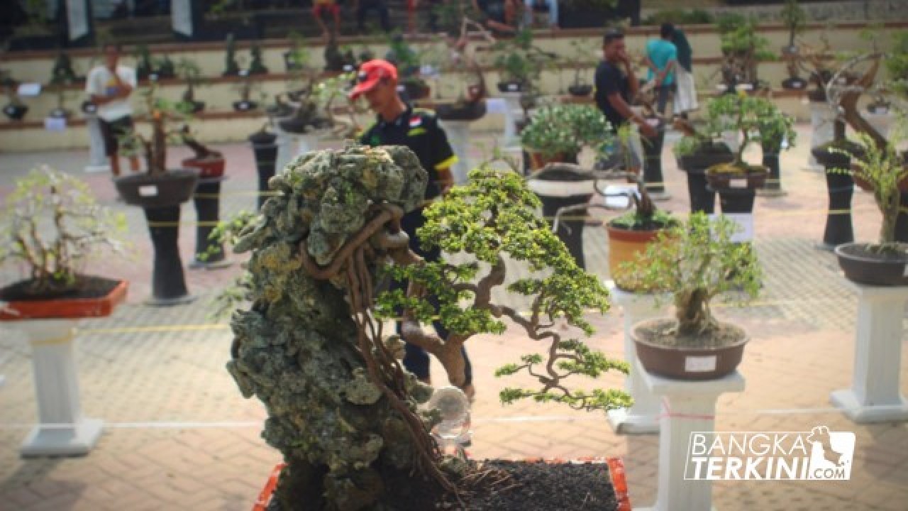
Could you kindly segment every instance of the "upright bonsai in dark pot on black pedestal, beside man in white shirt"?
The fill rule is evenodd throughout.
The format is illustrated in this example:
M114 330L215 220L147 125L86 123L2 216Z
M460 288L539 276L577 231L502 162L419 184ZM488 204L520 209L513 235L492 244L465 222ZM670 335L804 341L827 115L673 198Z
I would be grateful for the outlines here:
M124 153L141 151L146 172L116 177L114 185L124 203L143 208L148 223L154 261L152 297L146 304L173 306L192 300L186 289L178 240L180 205L192 196L199 174L194 169L168 168L167 140L179 137L181 130L168 130L166 123L183 121L185 114L178 110L179 104L158 97L156 90L157 85L152 82L143 92L151 135L134 131L121 140Z

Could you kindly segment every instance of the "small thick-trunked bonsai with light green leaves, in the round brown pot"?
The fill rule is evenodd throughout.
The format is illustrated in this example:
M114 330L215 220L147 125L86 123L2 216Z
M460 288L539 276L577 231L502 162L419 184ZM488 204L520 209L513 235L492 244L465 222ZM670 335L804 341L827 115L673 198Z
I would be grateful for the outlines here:
M698 212L661 233L645 255L627 264L645 288L672 293L680 345L696 346L719 326L710 309L716 296L744 291L738 301L743 305L759 293L759 263L750 245L732 241L736 229L724 216L711 221Z

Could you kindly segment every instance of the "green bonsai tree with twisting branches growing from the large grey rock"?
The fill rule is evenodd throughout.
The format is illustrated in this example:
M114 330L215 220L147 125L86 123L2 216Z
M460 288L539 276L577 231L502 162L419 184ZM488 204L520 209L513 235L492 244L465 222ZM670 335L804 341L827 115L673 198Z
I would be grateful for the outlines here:
M426 225L417 233L421 245L438 246L449 254L466 254L470 261L457 265L419 261L390 268L395 278L410 280L410 291L380 296L377 312L379 316L396 316L395 310L401 307L404 338L438 356L454 385L462 385L464 379L460 347L471 336L503 332L501 318L507 317L523 327L531 339L545 341L548 355L522 356L519 364L498 369L497 376L525 370L541 385L532 390L507 388L500 395L503 403L528 397L587 410L628 406L629 396L621 391L568 389L565 380L570 376L595 378L613 369L627 373L627 364L590 350L579 339L563 338L554 326L563 318L568 325L591 335L593 329L584 318L585 312L596 309L605 313L608 295L596 276L574 263L566 247L536 214L538 206L538 197L518 174L488 166L473 170L467 185L453 188L424 210ZM491 300L492 288L505 282L505 257L524 261L529 267L530 276L507 287L512 293L532 298L528 312ZM422 299L427 293L438 296L438 309ZM448 338L427 335L419 326L434 316L449 328Z

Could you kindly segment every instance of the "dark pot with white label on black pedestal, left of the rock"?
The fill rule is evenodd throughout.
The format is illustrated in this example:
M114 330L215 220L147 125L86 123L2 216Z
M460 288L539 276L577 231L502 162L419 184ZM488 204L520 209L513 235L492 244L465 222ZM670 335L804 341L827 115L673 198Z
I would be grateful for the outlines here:
M163 174L123 175L114 179L114 185L128 205L167 207L188 201L198 181L198 171L177 168Z

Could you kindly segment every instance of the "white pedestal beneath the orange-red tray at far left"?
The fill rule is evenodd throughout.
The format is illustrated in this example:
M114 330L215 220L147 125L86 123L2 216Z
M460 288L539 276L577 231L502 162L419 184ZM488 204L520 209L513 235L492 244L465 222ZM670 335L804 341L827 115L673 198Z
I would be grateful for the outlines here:
M98 442L104 423L82 415L73 357L75 320L16 321L32 346L38 426L20 449L22 456L81 456Z

